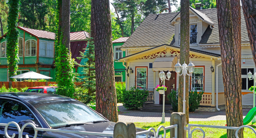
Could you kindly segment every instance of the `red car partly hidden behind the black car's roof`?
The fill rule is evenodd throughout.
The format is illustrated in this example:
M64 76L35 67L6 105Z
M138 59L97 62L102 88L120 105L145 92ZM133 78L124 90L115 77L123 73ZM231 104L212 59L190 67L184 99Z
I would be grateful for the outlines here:
M52 93L56 94L56 86L40 86L28 88L25 92L39 92L39 93Z

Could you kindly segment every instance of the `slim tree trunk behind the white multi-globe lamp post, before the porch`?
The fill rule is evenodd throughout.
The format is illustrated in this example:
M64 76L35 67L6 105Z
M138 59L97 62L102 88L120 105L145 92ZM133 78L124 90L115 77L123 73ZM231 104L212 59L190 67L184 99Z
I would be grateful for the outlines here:
M181 46L180 63L189 64L189 0L181 0ZM183 75L179 77L179 101L178 111L183 112ZM186 100L186 119L189 123L189 76L186 76L185 100Z

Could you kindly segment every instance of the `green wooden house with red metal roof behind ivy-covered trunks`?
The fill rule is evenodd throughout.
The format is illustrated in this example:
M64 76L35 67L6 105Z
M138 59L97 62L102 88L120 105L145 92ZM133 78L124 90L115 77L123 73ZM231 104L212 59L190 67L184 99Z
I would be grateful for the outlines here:
M54 67L54 40L55 33L43 30L17 27L19 30L19 63L17 75L28 71L35 71L40 74L52 77L55 81ZM0 81L8 81L8 63L6 55L6 43L8 35L0 37ZM89 33L85 31L70 33L70 47L72 58L80 63L76 57L80 56L80 51L84 52ZM74 72L81 72L75 65ZM18 80L22 81L22 80Z

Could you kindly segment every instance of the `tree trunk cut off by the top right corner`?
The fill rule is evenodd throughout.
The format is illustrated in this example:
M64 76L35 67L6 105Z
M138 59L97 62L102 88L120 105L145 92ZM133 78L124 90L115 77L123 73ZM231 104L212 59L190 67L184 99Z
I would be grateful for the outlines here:
M256 0L241 0L245 16L246 28L256 66Z

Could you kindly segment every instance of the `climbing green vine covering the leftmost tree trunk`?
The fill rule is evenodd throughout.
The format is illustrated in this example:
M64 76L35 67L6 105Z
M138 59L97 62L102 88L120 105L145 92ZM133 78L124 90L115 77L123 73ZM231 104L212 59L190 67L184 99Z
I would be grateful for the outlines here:
M6 46L6 56L8 61L9 77L15 76L18 70L19 62L19 46L18 37L19 31L16 28L18 26L18 14L19 14L19 0L9 0L9 13L7 20L7 46ZM9 81L14 79L9 78Z

